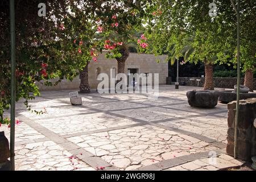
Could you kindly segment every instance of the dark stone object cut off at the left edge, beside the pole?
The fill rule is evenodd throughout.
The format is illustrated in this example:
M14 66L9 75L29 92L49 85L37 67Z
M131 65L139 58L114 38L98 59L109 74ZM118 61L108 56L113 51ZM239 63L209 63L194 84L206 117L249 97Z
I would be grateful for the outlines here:
M0 132L0 170L7 170L7 163L10 158L9 141L5 137L5 132Z

